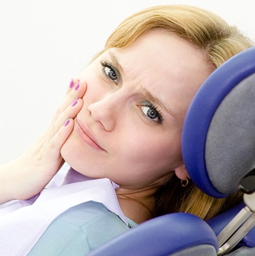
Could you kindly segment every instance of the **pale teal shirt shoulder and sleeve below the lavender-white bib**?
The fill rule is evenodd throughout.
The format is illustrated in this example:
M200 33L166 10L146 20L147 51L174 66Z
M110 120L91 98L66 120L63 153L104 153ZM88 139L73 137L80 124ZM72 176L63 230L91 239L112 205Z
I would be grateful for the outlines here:
M84 255L129 229L102 204L82 203L56 218L28 255Z

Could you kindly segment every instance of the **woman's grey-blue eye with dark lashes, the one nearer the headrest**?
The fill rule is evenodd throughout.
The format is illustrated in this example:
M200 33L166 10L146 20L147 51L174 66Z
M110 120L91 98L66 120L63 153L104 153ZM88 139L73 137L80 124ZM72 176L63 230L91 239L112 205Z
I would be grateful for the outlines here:
M149 101L142 102L138 105L144 117L150 122L156 122L158 124L163 123L163 117L160 111L157 110L156 106Z

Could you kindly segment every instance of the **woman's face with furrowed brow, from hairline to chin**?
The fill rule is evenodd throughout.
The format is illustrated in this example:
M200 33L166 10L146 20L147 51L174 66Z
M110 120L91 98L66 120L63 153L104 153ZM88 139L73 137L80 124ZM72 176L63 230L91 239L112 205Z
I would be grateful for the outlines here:
M160 185L182 166L184 116L209 74L201 51L165 30L107 50L79 76L87 90L63 158L121 187Z

